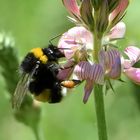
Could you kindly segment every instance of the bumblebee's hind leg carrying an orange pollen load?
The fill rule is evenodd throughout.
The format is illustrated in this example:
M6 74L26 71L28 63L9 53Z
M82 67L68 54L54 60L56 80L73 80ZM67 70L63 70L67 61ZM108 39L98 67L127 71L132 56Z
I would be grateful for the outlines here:
M61 86L66 87L66 88L74 88L75 86L79 85L80 83L82 83L81 80L65 80L61 82Z

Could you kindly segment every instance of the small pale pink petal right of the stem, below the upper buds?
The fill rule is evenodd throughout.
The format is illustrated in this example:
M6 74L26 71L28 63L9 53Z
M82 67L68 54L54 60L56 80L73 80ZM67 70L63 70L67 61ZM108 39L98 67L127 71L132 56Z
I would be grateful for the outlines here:
M114 40L114 39L123 38L125 35L125 30L126 30L126 26L124 22L119 22L111 29L111 32L109 33L109 39Z

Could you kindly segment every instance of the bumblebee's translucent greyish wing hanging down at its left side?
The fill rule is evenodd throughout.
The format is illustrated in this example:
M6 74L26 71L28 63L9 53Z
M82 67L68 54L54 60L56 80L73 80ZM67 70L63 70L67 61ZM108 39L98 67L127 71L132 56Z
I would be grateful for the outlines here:
M21 76L21 79L19 80L17 87L15 89L15 93L12 98L12 107L19 109L22 101L25 97L25 95L28 92L28 85L29 85L29 80L30 75L27 73L23 73Z

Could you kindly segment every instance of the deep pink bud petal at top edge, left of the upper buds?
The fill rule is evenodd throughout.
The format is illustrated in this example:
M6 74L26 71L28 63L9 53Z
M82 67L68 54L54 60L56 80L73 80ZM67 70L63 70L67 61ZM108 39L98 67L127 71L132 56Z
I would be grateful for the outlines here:
M74 14L77 16L80 15L79 7L76 0L62 0L62 1L70 14Z

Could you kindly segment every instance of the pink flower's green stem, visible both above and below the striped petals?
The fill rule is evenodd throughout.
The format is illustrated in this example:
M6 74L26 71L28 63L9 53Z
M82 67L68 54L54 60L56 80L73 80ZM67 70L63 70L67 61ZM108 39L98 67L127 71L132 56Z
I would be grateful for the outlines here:
M93 33L94 36L94 52L93 59L96 63L99 63L99 51L102 47L102 35ZM97 116L97 126L98 126L98 137L99 140L107 140L107 130L106 130L106 120L104 111L104 98L103 98L103 86L94 86L94 97L95 97L95 110Z

